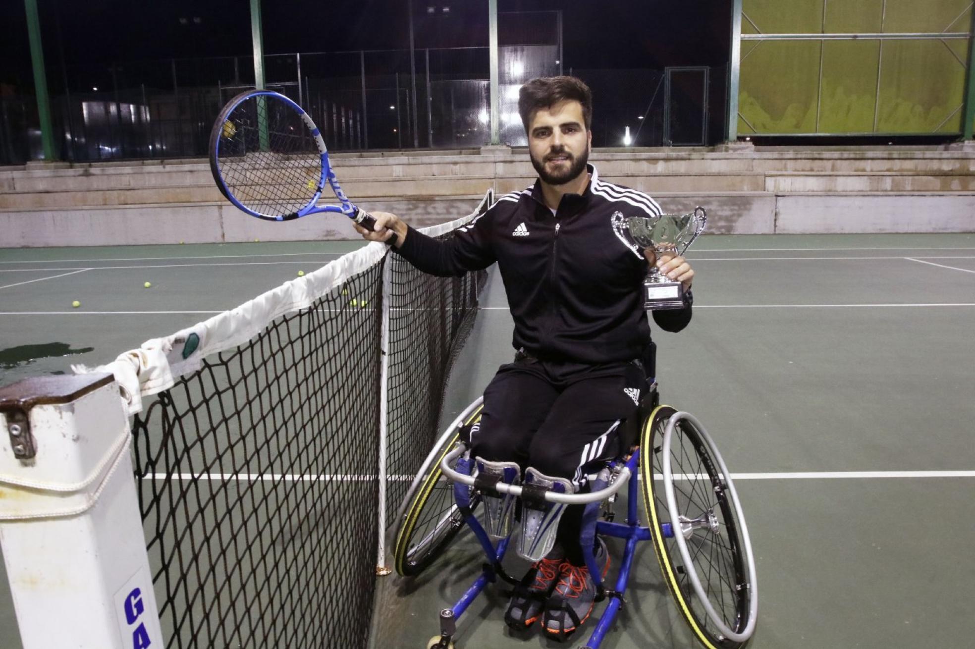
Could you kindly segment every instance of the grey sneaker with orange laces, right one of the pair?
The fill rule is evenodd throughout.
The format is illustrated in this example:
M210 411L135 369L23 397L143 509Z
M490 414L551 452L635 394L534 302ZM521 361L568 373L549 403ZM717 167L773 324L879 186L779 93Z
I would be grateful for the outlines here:
M597 537L596 564L602 566L603 578L609 570L609 553L603 539ZM596 583L589 568L564 561L559 582L545 603L544 629L551 637L565 640L582 626L596 605Z

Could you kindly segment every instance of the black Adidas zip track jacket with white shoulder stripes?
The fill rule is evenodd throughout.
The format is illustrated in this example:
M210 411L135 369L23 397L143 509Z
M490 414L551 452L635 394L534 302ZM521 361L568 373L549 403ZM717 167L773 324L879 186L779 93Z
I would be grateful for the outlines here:
M650 341L643 310L647 262L613 232L612 216L659 214L643 192L600 180L566 194L556 214L538 180L499 198L487 212L437 241L409 228L401 248L413 266L440 277L497 262L515 320L515 349L543 361L612 363L640 359ZM690 322L691 307L653 312L666 331Z

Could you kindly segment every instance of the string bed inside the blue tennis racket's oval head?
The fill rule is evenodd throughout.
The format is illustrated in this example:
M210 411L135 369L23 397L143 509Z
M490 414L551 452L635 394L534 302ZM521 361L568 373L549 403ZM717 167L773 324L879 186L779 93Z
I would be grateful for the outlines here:
M250 97L222 125L217 160L230 194L246 208L287 215L318 192L321 161L315 138L291 105Z

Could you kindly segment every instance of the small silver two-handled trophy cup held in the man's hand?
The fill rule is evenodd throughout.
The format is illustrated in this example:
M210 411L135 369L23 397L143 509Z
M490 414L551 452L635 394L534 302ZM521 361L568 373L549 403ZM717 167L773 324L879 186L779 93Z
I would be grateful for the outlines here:
M659 257L664 253L681 255L704 232L708 214L704 208L694 208L689 214L658 214L655 216L612 215L612 229L627 248L643 257L643 250L651 248ZM643 307L647 310L682 309L685 305L683 285L650 266L643 280Z

